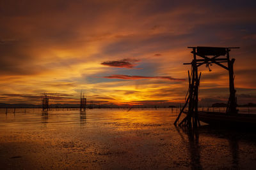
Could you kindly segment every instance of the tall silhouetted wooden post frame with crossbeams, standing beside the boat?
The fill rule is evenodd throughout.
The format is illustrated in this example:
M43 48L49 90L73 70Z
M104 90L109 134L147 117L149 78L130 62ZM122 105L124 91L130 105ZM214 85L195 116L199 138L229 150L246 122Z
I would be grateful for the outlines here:
M188 47L193 48L193 60L189 63L184 64L191 64L191 74L189 74L188 71L188 78L189 78L189 90L188 90L188 97L186 98L186 103L184 104L184 107L182 110L180 110L180 113L175 120L174 124L177 124L177 121L180 118L180 115L183 113L184 109L186 108L187 104L188 106L188 113L186 117L180 122L179 125L184 124L191 127L193 125L194 127L197 127L197 125L200 125L200 122L198 120L198 87L200 82L200 76L201 73L198 76L198 67L202 66L203 64L206 64L206 67L209 68L209 71L211 71L210 67L212 64L217 64L218 66L223 67L224 69L228 70L229 75L229 91L230 96L228 98L228 104L227 104L227 113L228 114L237 114L237 103L236 103L236 90L234 88L234 71L233 71L233 65L235 62L235 59L231 59L229 57L230 48L239 48L239 47L228 47L228 48L220 48L220 47L206 47L206 46L197 46L197 47ZM196 59L196 55L201 57L202 59ZM209 57L213 56L213 57ZM223 58L219 58L220 56L225 56ZM221 64L227 62L227 66Z

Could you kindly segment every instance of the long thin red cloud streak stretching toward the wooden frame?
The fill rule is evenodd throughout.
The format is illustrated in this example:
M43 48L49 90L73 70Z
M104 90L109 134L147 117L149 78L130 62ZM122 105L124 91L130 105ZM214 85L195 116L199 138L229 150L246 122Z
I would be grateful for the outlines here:
M176 81L185 80L181 78L172 78L171 76L129 76L129 75L123 75L123 74L114 74L111 76L104 76L104 78L118 78L118 79L125 79L125 80L139 80L143 78L158 78L158 79L176 80Z

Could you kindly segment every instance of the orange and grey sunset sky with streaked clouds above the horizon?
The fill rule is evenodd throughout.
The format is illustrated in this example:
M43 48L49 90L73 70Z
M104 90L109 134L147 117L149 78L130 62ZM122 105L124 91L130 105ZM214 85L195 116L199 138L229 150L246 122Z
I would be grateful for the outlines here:
M1 1L0 103L184 103L188 46L232 49L239 104L256 103L255 1ZM200 67L200 102L228 73Z

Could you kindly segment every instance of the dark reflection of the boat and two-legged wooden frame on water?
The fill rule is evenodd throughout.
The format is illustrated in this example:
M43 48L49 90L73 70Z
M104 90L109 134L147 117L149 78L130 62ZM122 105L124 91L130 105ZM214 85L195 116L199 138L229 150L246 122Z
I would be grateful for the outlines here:
M190 155L191 169L203 169L200 160L200 152L203 148L200 148L199 137L202 139L214 137L225 139L228 142L227 152L231 155L231 166L232 169L240 169L239 167L239 140L247 140L248 145L255 145L251 138L256 135L252 132L234 132L231 129L213 129L209 125L204 125L198 129L189 129L187 127L175 127L176 131L180 135L180 138L184 143L187 143L188 153ZM181 131L181 132L180 132ZM186 138L187 137L187 138ZM213 146L209 146L213 147ZM212 153L209 153L209 155ZM254 154L253 154L254 155ZM204 158L203 158L204 159ZM253 165L252 167L254 167Z

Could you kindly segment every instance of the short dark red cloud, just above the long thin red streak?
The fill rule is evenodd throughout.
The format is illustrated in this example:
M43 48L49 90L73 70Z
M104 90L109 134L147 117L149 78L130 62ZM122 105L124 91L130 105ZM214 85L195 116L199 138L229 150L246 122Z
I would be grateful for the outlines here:
M106 61L102 62L102 65L111 66L111 67L125 67L125 68L132 68L136 66L134 62L138 62L140 60L136 59L123 59L123 60L113 60L113 61Z

